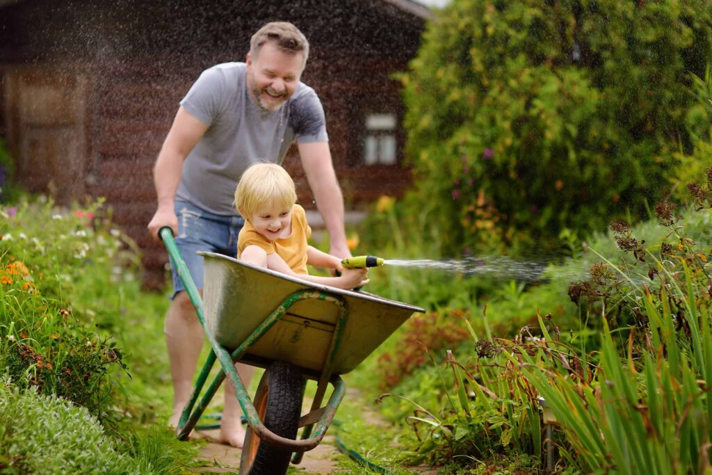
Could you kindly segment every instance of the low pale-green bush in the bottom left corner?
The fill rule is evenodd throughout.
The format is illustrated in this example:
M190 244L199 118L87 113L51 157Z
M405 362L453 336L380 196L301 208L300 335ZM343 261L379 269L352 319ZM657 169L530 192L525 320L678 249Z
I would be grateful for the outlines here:
M10 474L137 474L88 410L0 381L0 470Z

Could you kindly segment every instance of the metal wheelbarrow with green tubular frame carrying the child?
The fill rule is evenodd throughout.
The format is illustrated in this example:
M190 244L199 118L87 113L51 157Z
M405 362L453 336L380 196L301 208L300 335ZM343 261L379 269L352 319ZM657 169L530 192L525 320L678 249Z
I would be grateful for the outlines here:
M329 428L345 393L340 375L357 367L414 312L424 312L371 293L317 285L212 252L199 253L205 263L201 298L171 229L162 228L159 236L211 345L181 414L177 436L187 439L229 377L248 424L240 474L279 475L290 461L298 464ZM219 373L203 391L216 360ZM235 362L266 369L253 400ZM301 415L308 380L315 380L317 388L310 411ZM333 391L322 407L329 384Z

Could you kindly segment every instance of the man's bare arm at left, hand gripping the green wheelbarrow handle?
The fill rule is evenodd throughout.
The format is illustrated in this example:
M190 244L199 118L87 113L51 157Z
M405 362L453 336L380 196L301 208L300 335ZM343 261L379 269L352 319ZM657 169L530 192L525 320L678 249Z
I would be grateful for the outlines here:
M174 210L176 190L180 183L183 160L188 156L208 126L194 118L184 108L179 108L166 140L153 167L153 182L158 196L158 207L148 224L148 231L158 239L158 231L170 226L178 233L178 218Z

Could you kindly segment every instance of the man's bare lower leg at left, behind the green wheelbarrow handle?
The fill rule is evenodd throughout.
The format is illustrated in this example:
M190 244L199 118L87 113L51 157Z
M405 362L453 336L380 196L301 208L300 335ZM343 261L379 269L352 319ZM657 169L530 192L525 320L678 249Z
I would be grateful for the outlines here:
M203 345L203 328L185 291L177 293L168 308L165 333L173 380L173 411L168 424L177 427L193 391L193 374Z

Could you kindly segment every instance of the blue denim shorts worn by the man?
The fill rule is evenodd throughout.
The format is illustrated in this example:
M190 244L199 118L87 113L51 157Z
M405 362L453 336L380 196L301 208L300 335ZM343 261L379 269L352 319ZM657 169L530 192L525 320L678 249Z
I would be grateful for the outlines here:
M198 251L211 251L230 257L237 256L237 236L245 224L240 216L212 214L188 202L175 202L178 216L178 236L175 241L188 267L195 286L203 288L203 257ZM178 277L178 271L171 262L173 276L173 299L185 287Z

